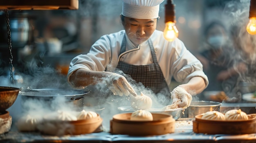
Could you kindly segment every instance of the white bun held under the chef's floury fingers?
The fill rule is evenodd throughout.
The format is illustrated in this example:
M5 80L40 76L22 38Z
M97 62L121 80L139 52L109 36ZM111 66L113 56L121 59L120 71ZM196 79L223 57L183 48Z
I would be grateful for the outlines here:
M141 95L137 95L136 97L131 96L130 102L132 108L137 110L145 110L152 107L152 99L147 95L144 95L142 92Z

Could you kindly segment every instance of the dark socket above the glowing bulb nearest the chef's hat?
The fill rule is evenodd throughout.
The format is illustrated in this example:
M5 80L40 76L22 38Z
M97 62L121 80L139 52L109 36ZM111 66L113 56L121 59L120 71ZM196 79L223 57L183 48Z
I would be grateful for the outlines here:
M172 0L167 0L167 4L165 4L165 23L166 22L176 22L175 20L175 5Z

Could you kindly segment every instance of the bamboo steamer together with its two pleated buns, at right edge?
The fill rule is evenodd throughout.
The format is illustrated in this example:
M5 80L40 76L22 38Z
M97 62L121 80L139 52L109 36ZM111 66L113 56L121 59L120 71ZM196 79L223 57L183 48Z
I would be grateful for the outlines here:
M253 134L255 126L256 114L246 114L240 109L225 114L209 111L193 120L193 132L204 134Z

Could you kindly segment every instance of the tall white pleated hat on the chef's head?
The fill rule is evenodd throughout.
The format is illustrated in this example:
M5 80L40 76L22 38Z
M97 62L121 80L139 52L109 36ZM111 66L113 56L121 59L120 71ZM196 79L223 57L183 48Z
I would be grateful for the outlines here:
M159 4L164 0L123 0L122 15L136 19L158 18Z

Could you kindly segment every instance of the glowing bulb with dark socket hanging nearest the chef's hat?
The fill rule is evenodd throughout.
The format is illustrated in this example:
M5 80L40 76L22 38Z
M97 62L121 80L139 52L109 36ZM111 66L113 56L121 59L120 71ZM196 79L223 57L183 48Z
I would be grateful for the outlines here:
M165 4L164 38L168 41L175 40L179 35L179 31L175 26L176 21L174 7L175 5L172 0L168 0L167 4Z

